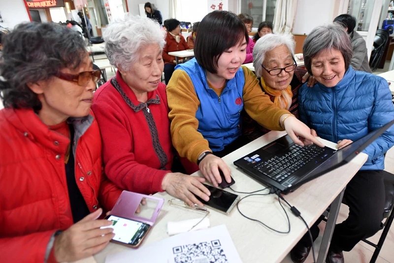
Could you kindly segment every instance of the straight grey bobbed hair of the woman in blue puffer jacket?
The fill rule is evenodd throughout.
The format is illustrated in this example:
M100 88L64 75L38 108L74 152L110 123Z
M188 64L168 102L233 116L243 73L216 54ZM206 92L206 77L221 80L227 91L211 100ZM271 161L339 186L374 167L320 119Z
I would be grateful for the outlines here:
M305 38L302 52L304 55L305 68L312 75L312 58L323 50L336 49L342 53L347 71L352 61L352 41L343 27L337 23L331 23L316 27Z

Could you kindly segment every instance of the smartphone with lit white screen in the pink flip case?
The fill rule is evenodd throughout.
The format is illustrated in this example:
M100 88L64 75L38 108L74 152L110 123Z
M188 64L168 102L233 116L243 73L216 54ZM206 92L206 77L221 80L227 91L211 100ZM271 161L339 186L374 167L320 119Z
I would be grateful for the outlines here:
M108 215L105 219L112 221L112 225L101 229L114 229L115 236L111 241L132 248L137 248L151 229L148 224L115 215Z

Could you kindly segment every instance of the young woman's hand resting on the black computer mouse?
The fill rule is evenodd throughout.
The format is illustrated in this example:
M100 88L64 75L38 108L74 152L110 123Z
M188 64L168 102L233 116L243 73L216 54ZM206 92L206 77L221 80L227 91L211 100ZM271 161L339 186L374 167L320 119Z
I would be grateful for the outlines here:
M231 170L230 167L223 161L213 154L205 156L204 159L198 165L201 173L204 177L210 181L214 187L218 187L219 183L222 182L222 177L220 177L219 169L222 170L223 175L225 175L226 181L231 182Z

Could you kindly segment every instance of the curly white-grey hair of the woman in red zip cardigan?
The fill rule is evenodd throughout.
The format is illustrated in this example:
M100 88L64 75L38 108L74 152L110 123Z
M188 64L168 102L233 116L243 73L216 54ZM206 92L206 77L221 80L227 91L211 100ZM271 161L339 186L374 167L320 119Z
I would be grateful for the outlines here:
M158 44L163 51L165 31L159 23L147 17L125 14L125 18L110 24L103 33L105 54L117 68L129 71L139 59L139 51L147 45Z

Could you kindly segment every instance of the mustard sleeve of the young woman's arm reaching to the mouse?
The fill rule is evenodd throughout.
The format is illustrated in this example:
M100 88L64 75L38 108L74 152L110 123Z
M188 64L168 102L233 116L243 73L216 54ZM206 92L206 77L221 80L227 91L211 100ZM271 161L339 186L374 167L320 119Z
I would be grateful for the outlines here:
M208 141L197 131L196 112L200 106L194 85L183 70L175 70L167 85L168 117L172 144L181 157L197 163L198 155L210 150Z

